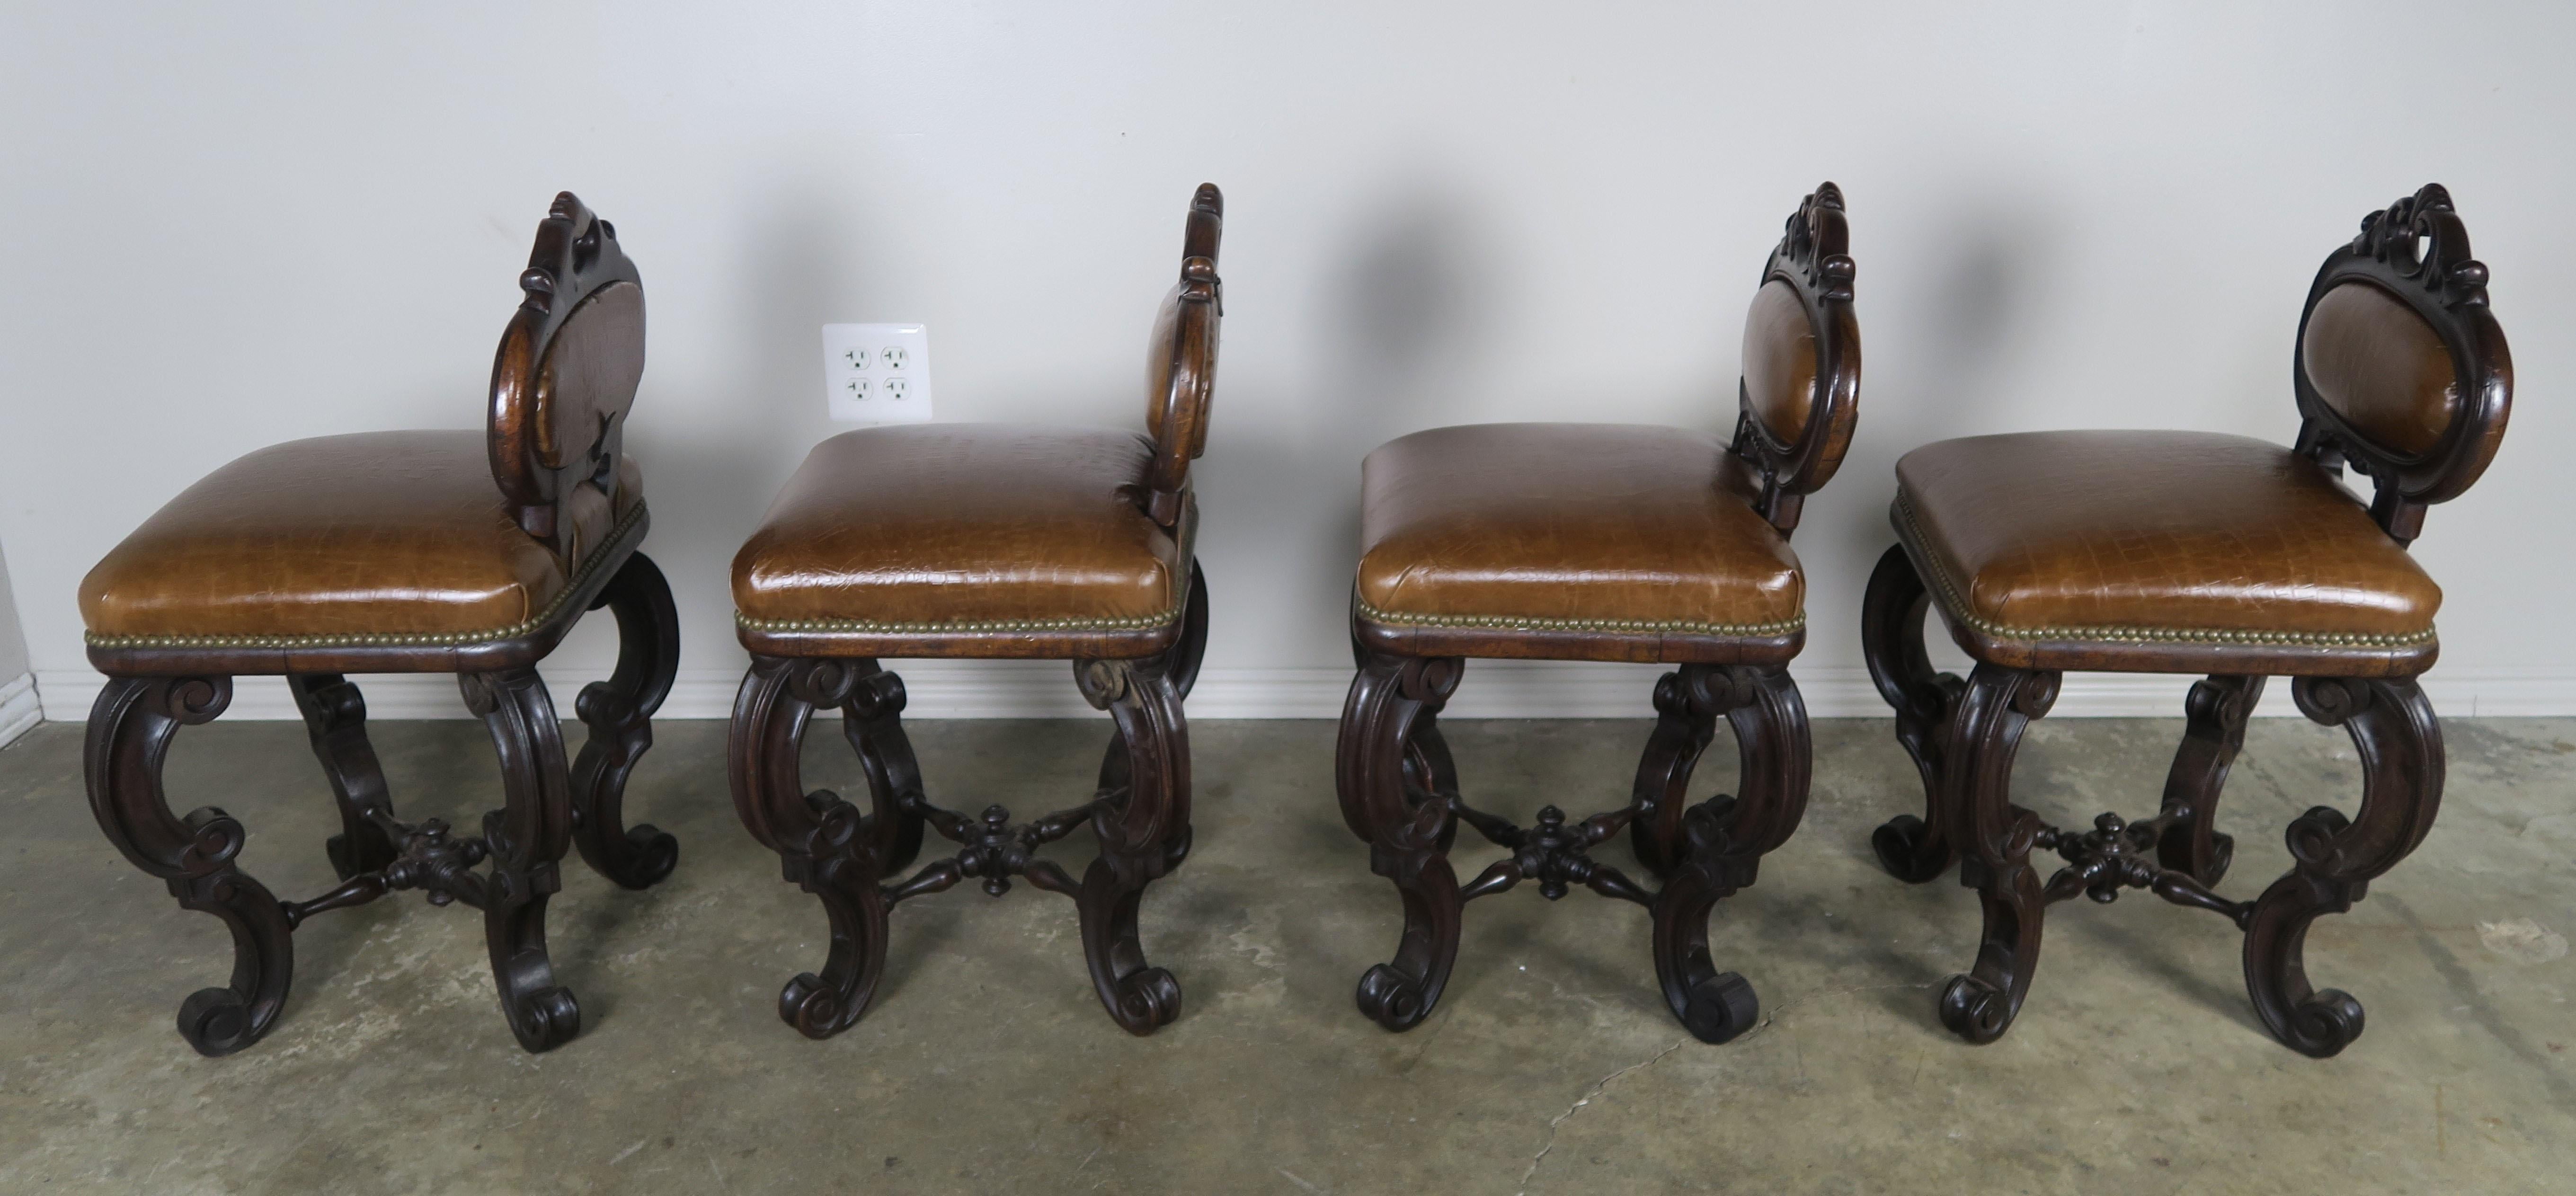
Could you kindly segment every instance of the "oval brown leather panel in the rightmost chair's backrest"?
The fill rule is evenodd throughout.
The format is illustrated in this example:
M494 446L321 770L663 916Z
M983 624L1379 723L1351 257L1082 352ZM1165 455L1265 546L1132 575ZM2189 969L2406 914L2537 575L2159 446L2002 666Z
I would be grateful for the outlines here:
M2298 358L2316 397L2385 448L2421 454L2460 415L2460 379L2442 335L2372 284L2318 296Z

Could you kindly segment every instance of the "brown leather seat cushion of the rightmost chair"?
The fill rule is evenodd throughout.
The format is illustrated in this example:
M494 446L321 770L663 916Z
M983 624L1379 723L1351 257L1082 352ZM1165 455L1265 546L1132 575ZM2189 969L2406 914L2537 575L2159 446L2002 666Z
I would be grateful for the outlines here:
M2442 606L2316 461L2244 436L1971 436L1896 482L1932 595L1991 639L2391 650Z

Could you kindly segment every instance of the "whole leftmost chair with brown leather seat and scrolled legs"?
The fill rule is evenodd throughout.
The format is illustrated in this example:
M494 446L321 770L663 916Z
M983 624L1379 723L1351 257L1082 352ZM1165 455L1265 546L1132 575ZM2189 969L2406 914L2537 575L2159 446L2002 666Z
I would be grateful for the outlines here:
M582 1031L546 961L564 848L629 889L677 858L670 835L629 830L618 812L680 662L670 588L636 552L641 477L618 451L644 376L644 284L616 229L569 191L536 227L518 284L528 299L500 340L484 433L263 448L180 492L80 583L90 662L108 675L88 742L98 830L170 882L183 910L232 928L232 985L178 1010L204 1054L276 1026L296 925L397 889L482 910L510 1034L531 1052L562 1046ZM618 619L618 668L574 704L590 742L567 776L536 662L600 606ZM345 673L456 673L502 763L507 804L482 835L394 817ZM234 675L286 675L340 799L340 887L322 897L281 902L234 866L245 835L232 815L173 817L162 799L170 735L224 714ZM484 858L492 869L474 871Z

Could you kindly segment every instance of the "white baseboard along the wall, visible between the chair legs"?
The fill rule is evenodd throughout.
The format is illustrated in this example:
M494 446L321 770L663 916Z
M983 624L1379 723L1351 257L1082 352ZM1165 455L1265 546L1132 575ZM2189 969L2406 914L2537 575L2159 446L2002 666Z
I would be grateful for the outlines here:
M1097 717L1074 693L1072 668L1051 660L902 660L907 714L920 719L1069 719ZM1571 665L1533 660L1473 660L1450 719L1633 719L1654 714L1649 696L1662 665ZM1816 719L1886 719L1868 670L1790 668L1806 709ZM556 711L572 717L572 699L600 673L546 670ZM0 686L0 742L31 722L36 696L44 717L80 722L98 699L98 673L44 670ZM734 709L737 670L680 670L665 719L724 719ZM376 675L361 683L376 719L464 719L456 678ZM2069 673L2053 719L2179 717L2192 678L2141 673ZM1190 693L1193 719L1334 719L1350 691L1345 668L1211 668ZM2434 668L2424 678L2434 709L2450 717L2576 714L2576 668ZM2264 691L2264 717L2290 717L2290 686ZM296 704L281 678L240 678L227 719L294 719Z

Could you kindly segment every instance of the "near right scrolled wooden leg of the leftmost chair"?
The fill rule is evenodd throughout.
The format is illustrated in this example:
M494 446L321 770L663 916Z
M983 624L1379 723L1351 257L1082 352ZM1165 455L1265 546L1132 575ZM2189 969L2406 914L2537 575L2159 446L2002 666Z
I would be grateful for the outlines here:
M536 668L464 673L466 709L482 717L500 753L505 807L484 815L492 876L484 882L484 943L510 1034L528 1052L551 1052L582 1034L582 1005L554 982L546 956L546 900L572 845L572 781L554 699Z

